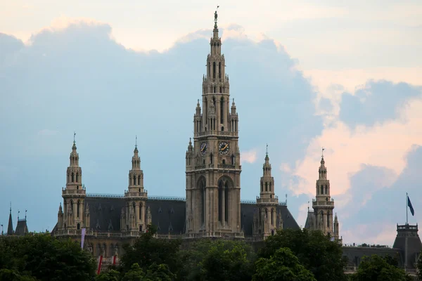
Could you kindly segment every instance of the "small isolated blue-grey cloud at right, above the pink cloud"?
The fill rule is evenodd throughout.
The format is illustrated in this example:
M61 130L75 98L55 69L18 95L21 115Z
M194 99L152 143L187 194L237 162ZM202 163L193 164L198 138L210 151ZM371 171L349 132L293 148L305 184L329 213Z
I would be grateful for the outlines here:
M397 118L397 110L410 98L421 96L422 88L407 83L369 81L354 95L343 93L340 119L354 128L359 124L373 126Z

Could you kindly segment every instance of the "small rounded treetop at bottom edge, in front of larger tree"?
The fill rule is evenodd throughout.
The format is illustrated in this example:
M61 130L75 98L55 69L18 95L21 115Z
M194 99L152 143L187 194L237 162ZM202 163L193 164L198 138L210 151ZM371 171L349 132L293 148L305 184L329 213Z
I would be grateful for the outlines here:
M300 264L298 257L290 249L280 248L269 259L258 259L252 281L316 281L316 279Z

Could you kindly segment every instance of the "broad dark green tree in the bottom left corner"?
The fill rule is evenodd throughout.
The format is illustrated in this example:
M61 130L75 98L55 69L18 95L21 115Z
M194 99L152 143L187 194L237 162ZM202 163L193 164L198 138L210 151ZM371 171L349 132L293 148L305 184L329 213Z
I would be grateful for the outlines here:
M37 280L91 280L96 262L72 240L38 234L0 240L0 267Z

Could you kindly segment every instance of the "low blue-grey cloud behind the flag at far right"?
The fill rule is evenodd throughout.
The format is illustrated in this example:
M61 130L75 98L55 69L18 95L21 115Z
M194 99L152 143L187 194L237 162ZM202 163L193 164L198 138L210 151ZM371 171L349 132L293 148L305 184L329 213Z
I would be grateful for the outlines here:
M341 211L353 210L353 214L340 223L349 242L376 242L392 245L396 224L404 224L406 214L406 192L409 192L415 208L415 216L409 212L409 223L421 223L417 212L422 206L422 146L414 145L407 153L407 165L399 176L382 166L366 166L352 176L353 200L341 206ZM385 178L383 178L383 176ZM376 179L374 181L374 178ZM368 196L370 195L370 196ZM362 198L366 204L362 205ZM359 206L360 205L360 206ZM360 231L356 231L361 229Z

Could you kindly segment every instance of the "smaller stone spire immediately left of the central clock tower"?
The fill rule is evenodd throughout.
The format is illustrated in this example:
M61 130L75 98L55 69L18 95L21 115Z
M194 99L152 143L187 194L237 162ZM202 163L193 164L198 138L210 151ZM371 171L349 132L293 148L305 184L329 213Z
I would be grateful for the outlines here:
M122 230L146 230L146 199L147 193L143 190L143 171L141 170L141 157L138 151L138 137L136 136L134 156L132 156L132 169L129 171L129 187L124 192L126 209L124 209L124 224Z

